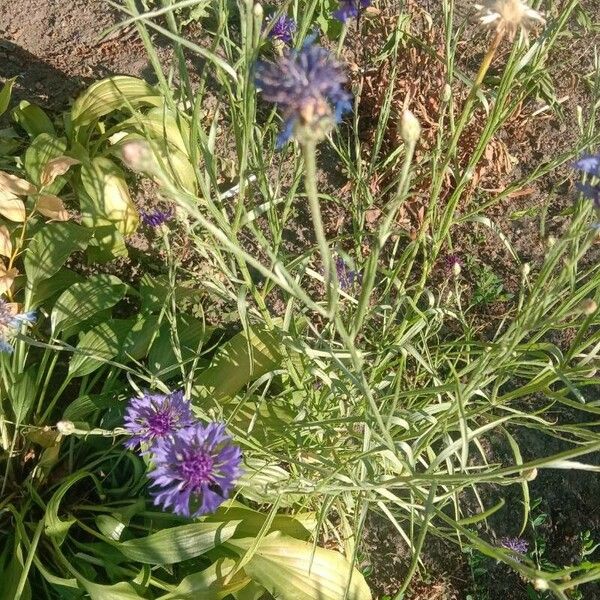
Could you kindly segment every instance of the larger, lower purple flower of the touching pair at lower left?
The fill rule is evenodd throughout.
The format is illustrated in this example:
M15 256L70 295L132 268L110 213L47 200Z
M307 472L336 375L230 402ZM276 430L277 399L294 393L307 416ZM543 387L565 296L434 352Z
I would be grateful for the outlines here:
M154 504L184 517L214 512L241 474L242 452L224 423L197 423L154 447Z

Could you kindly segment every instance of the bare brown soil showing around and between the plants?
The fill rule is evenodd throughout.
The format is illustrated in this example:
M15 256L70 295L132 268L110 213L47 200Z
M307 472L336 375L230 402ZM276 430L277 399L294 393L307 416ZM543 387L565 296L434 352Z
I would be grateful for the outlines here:
M439 7L437 0L419 0L416 4L430 10L435 18ZM459 4L466 10L470 3ZM598 0L588 0L582 4L591 15L600 18ZM122 18L102 0L6 0L3 5L0 9L0 80L18 77L15 86L17 100L27 99L43 107L61 110L67 108L93 80L110 74L129 74L154 80L144 48L133 28L100 38L102 31ZM577 30L577 25L574 27ZM518 178L575 143L577 106L583 107L584 114L589 106L584 75L590 72L593 64L590 48L594 43L600 45L597 33L593 39L590 37L574 35L572 39L559 44L553 64L550 65L556 94L564 99L562 115L557 117L548 114L543 118L531 119L527 128L520 127L513 132L503 133L502 142L507 151L511 156L518 157L518 164L513 171L510 175L504 173L504 176ZM166 47L161 49L161 58L170 60L170 51ZM474 58L477 58L476 48L472 51L466 48L462 57L464 63L468 65ZM334 185L332 182L330 184ZM335 181L335 185L341 184ZM490 216L515 242L522 260L535 263L544 255L539 219L535 216L537 213L520 219L510 218L510 214L539 207L552 193L557 199L549 212L558 215L570 201L569 190L568 173L562 169L533 185L527 195L512 198L509 204L493 209ZM331 218L336 217L333 215ZM550 233L560 232L561 226L560 218L551 220ZM503 276L506 288L510 289L515 278L514 265L497 239L484 232L483 241L480 238L475 242L469 231L465 230L464 234L457 236L457 242L458 252L485 252L491 266ZM489 310L493 310L493 307ZM539 439L526 441L531 456L557 451ZM590 530L592 537L600 540L600 483L595 474L582 476L543 472L533 482L532 497L543 499L540 510L548 514L544 525L548 556L557 564L569 564L577 560L581 550L579 532ZM491 535L500 537L516 533L510 519L510 510L513 509L518 510L518 506L508 509L507 515L505 511L504 521L497 524ZM393 596L409 560L405 543L390 531L387 521L373 518L364 546L365 564L372 570L369 583L376 597L383 598L386 594ZM466 600L468 594L472 594L473 600L480 600L472 588L471 569L466 555L461 554L455 546L432 541L427 547L424 562L426 568L412 586L411 600ZM481 600L528 598L524 582L502 565L488 565L484 582L487 582L484 583L487 595L481 596ZM600 600L599 588L588 587L584 590L584 598Z

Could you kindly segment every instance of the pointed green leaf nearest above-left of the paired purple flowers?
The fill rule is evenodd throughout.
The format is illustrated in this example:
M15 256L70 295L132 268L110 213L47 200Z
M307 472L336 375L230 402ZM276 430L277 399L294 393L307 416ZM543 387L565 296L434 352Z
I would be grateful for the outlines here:
M102 323L85 333L71 357L69 377L89 375L115 358L121 350L130 327L130 321L113 320L110 323Z

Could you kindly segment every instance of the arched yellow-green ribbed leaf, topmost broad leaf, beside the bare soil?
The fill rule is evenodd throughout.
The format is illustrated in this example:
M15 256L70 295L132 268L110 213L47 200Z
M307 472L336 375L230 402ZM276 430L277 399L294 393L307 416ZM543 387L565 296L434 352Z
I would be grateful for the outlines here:
M161 104L162 96L151 85L136 77L118 75L97 81L85 90L75 100L71 117L73 125L79 127L128 105L138 108Z

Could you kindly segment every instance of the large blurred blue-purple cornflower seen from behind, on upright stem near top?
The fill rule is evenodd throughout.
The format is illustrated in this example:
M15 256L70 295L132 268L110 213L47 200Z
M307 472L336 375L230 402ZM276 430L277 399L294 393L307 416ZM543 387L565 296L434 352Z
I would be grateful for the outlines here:
M308 41L276 62L256 66L256 85L263 97L283 111L281 147L294 135L300 142L323 139L350 110L352 96L344 89L346 73L325 48Z

